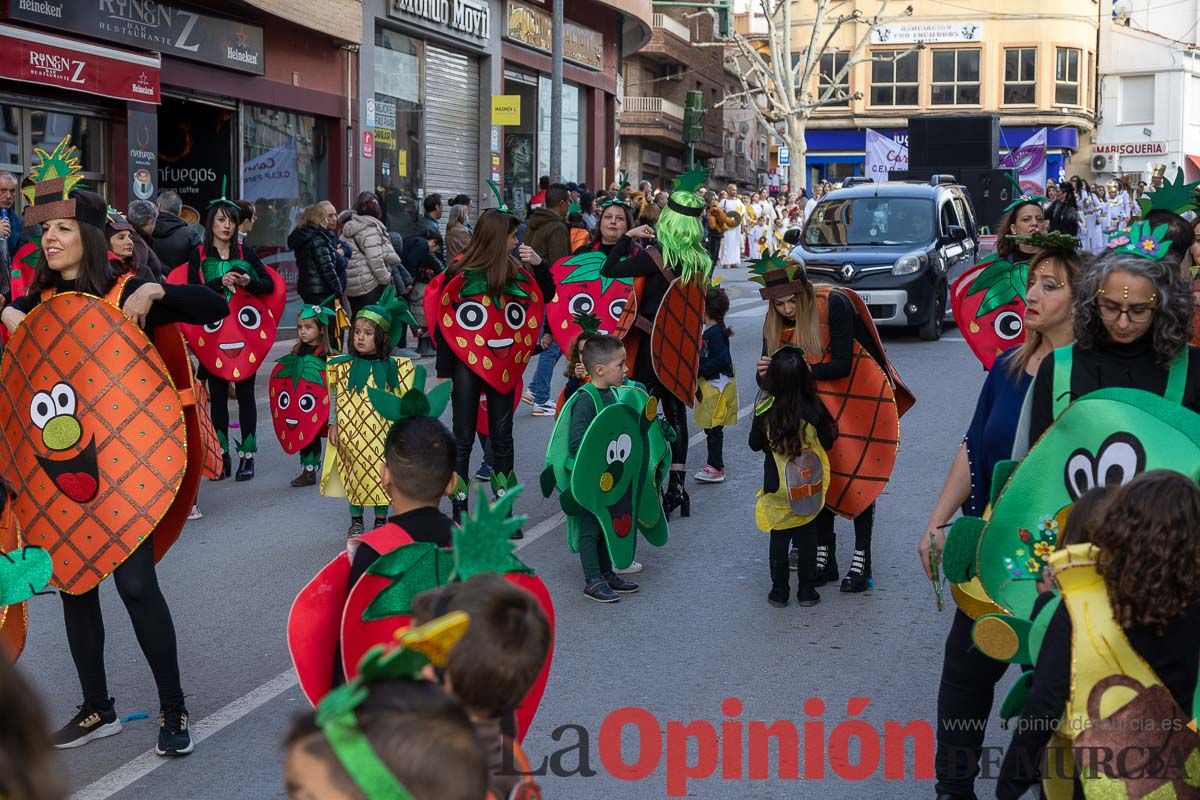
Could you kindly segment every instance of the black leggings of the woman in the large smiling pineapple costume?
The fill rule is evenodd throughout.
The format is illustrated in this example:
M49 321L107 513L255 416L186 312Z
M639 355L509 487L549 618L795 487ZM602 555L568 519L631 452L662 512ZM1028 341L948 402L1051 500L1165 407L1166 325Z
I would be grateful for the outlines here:
M142 652L150 663L158 687L161 708L181 704L184 690L179 682L179 654L175 649L175 624L167 599L158 588L154 567L154 542L146 540L113 571L116 594L133 622ZM62 619L67 644L79 673L83 698L91 706L108 705L108 679L104 675L104 619L100 609L100 588L82 595L62 597ZM122 660L124 661L124 660Z

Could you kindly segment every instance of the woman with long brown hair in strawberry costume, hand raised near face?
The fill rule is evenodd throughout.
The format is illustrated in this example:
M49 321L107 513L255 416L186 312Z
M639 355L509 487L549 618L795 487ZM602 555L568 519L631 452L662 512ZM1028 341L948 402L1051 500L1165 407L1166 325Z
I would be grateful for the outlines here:
M454 385L451 408L458 446L455 471L460 487L451 504L456 522L467 511L463 476L470 475L484 396L492 445L492 491L500 497L516 483L515 392L541 331L544 297L554 295L550 265L532 247L517 248L518 224L506 206L481 213L462 258L434 278L425 293L425 318L438 345L438 377L449 378ZM512 258L514 251L534 269L533 273Z

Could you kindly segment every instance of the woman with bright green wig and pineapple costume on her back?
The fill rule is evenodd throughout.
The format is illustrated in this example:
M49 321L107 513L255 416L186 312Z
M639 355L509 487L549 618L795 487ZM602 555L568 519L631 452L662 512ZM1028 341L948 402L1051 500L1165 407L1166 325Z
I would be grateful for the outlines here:
M636 313L626 311L619 330L632 365L630 375L659 398L667 423L674 428L671 475L662 495L667 517L676 509L684 517L691 515L691 499L684 488L688 408L696 402L704 293L713 272L701 223L704 200L696 194L707 180L708 172L698 168L677 178L659 217L658 242L638 252L626 249L625 258L617 245L600 270L606 278L634 278ZM630 239L654 235L646 227L625 231Z

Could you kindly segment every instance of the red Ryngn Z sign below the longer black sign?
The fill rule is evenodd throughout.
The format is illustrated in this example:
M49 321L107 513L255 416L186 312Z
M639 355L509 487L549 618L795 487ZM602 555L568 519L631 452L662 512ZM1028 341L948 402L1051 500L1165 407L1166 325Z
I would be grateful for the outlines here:
M0 78L160 103L158 58L0 25Z

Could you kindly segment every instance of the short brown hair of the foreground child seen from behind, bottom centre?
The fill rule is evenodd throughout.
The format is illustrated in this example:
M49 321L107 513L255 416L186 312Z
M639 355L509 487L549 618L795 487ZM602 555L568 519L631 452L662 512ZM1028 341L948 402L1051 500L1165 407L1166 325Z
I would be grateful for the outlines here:
M455 698L482 717L516 708L550 650L550 622L538 600L496 573L476 575L414 597L413 624L452 610L470 616L445 667Z

